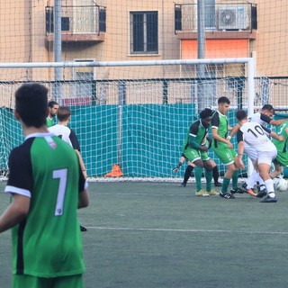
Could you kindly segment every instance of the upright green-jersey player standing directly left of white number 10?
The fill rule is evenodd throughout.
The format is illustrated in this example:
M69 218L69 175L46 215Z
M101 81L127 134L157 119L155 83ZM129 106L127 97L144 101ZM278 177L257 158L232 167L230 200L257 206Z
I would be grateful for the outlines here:
M220 196L225 199L235 199L233 193L244 193L238 188L238 168L239 162L237 153L228 137L229 127L227 112L229 111L230 101L227 97L222 96L218 99L218 109L211 119L212 144L211 148L220 161L226 165L227 171L223 178ZM232 178L232 189L228 192L230 179Z

